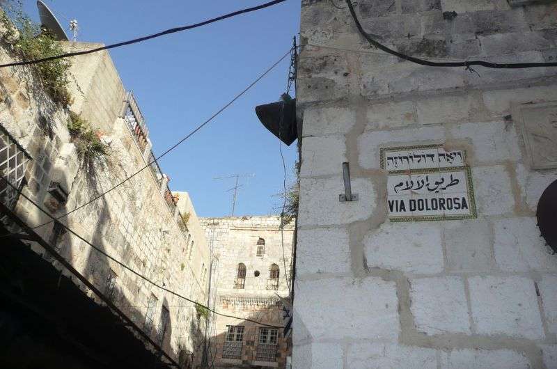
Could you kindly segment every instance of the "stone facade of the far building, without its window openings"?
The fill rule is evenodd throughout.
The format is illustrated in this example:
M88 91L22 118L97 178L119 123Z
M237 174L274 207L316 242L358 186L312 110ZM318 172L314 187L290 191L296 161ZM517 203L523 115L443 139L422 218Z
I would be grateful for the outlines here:
M284 325L283 305L277 295L283 298L289 296L286 281L288 278L288 283L291 283L292 278L290 262L294 226L293 223L286 225L281 235L280 224L281 219L276 216L201 219L207 242L212 244L215 256L219 259L215 284L217 311L278 327ZM257 243L260 238L265 240L263 256L257 256ZM245 284L244 288L235 288L237 267L240 262L246 266ZM269 284L269 268L272 264L276 264L280 271L278 290L274 290ZM287 269L286 274L284 265ZM259 272L258 276L256 272ZM228 325L244 326L242 359L222 357ZM212 348L216 350L217 368L227 366L284 368L286 356L290 354L290 347L282 336L282 329L279 329L276 361L257 360L260 327L263 326L254 322L217 315L214 331L211 334Z

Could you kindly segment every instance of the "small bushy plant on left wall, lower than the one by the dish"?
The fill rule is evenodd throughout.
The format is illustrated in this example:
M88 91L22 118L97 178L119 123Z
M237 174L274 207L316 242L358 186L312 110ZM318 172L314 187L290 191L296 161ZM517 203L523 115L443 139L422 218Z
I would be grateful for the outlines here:
M71 111L68 131L77 148L77 155L86 166L109 155L109 146L100 139L100 132L94 131L86 120Z

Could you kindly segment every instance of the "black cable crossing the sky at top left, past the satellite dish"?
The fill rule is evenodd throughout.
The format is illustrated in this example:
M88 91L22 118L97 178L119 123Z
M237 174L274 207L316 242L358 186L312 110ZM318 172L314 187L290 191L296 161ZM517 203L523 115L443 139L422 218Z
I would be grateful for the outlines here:
M67 54L48 56L47 58L34 59L34 60L31 60L31 61L16 61L14 63L0 64L0 68L15 67L17 65L30 65L30 64L36 64L36 63L42 63L42 62L45 62L45 61L53 61L53 60L61 59L61 58L69 58L70 56L79 56L79 55L91 54L91 53L94 53L94 52L100 52L102 50L108 50L108 49L114 49L116 47L132 45L132 44L135 44L137 42L143 42L143 41L146 41L146 40L150 40L152 38L157 38L157 37L160 37L160 36L169 35L171 33L187 31L189 29L194 29L194 28L197 28L197 27L205 26L207 24L210 24L210 23L213 23L213 22L218 22L218 21L226 19L226 18L235 17L236 15L241 15L241 14L244 14L244 13L250 13L250 12L260 10L260 9L263 9L263 8L269 8L269 6L274 6L274 5L276 5L278 3L282 3L284 1L286 1L286 0L269 1L268 3L263 3L263 4L258 5L258 6L253 6L252 8L237 10L233 13L228 13L226 15L221 15L220 17L216 17L216 18L212 18L212 19L207 19L203 22L199 22L199 23L196 23L196 24L189 24L188 26L175 27L173 29L167 29L166 31L162 31L162 32L159 32L159 33L154 33L154 34L149 35L149 36L134 38L133 40L118 42L118 43L112 44L112 45L107 45L107 46L102 46L102 47L95 47L95 49L84 50L84 51L81 51L81 52L70 52L70 53L67 53Z

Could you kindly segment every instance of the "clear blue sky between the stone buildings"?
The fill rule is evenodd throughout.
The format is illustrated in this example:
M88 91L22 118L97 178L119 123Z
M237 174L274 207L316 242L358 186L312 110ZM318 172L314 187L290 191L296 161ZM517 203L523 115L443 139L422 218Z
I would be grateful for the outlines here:
M80 41L105 44L192 24L234 10L249 1L46 0L58 20L79 22ZM38 17L33 0L29 15ZM111 50L125 87L132 90L146 116L155 155L209 118L258 74L278 60L299 31L300 1ZM285 91L289 58L218 118L159 163L173 190L188 191L202 217L230 214L234 180L214 180L235 173L244 178L236 215L277 212L283 167L278 140L259 122L254 108L277 101ZM297 159L296 143L283 146L287 171Z

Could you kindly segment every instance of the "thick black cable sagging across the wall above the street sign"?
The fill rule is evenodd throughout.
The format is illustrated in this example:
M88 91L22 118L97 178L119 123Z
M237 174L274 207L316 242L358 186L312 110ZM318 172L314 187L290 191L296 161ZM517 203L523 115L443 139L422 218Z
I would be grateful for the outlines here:
M354 23L356 24L356 28L362 34L363 37L368 40L370 45L373 47L377 47L377 49L383 50L386 53L389 53L394 56L398 56L401 59L405 59L407 61L411 61L412 63L416 63L419 65L425 65L428 67L465 67L469 68L471 65L481 65L485 68L495 68L495 69L523 69L523 68L540 68L540 67L557 67L557 62L551 63L490 63L489 61L444 61L444 62L437 62L437 61L427 61L421 58L414 58L414 56L409 56L406 54L402 54L397 52L393 49L389 49L385 45L380 44L376 40L374 40L366 31L364 31L363 27L360 24L358 17L356 16L356 12L354 11L354 6L352 6L351 0L345 0L350 10L350 14L352 15L352 19L354 19Z

